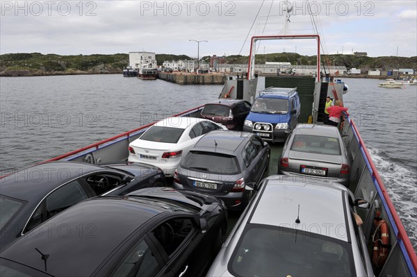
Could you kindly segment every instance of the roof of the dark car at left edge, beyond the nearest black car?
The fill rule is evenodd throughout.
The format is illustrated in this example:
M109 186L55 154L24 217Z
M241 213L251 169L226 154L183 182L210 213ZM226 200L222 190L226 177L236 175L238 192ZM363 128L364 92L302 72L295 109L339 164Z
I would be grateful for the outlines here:
M44 196L58 185L104 167L83 162L46 162L17 171L1 179L0 194L28 201Z

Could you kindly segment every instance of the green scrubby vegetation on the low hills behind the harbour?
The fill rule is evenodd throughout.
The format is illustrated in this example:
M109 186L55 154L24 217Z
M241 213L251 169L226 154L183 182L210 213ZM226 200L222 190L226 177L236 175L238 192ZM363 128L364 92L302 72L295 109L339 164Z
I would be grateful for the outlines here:
M373 70L398 68L417 69L417 57L357 57L353 55L322 55L325 65L340 65ZM156 54L158 65L165 60L190 60L186 55ZM210 57L202 57L209 62ZM224 57L225 64L247 64L248 56L232 55ZM301 56L298 53L269 53L256 55L256 64L268 62L291 62L291 65L316 65L316 56ZM10 53L0 55L0 76L42 76L62 74L121 74L129 65L129 54L61 56L42 53Z

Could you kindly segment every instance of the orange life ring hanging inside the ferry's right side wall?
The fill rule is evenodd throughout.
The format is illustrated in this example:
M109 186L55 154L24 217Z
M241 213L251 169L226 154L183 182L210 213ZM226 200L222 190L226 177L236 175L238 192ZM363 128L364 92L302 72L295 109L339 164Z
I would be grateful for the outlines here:
M377 221L375 228L372 262L375 267L381 268L384 265L386 258L388 258L389 249L391 247L389 244L389 227L384 219L380 219Z

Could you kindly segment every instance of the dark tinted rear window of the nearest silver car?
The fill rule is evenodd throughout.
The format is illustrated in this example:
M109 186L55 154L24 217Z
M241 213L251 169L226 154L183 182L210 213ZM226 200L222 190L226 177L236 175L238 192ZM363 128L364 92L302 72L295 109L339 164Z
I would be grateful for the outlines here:
M355 276L348 242L308 230L247 224L229 271L234 276Z

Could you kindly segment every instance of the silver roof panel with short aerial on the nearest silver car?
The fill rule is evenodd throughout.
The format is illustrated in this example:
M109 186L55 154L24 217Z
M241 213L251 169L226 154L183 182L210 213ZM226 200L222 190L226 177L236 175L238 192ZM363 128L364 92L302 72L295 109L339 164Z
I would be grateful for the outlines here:
M265 179L251 224L265 224L318 233L345 242L347 219L343 186L320 181L293 181L288 176ZM300 212L299 212L300 207ZM300 223L295 223L296 219Z

